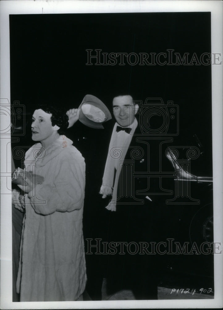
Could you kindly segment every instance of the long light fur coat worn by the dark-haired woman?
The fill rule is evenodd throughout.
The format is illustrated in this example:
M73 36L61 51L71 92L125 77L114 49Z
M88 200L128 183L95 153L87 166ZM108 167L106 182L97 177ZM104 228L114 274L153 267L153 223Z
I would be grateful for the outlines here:
M40 150L40 152L39 152ZM82 233L85 162L60 136L45 153L33 145L26 170L44 177L25 195L17 292L20 301L77 300L86 285Z

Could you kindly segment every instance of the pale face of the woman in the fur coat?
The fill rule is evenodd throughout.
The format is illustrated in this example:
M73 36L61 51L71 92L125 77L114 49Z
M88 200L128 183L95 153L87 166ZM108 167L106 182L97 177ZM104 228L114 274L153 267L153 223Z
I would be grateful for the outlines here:
M52 126L50 119L51 116L52 114L46 113L41 109L35 110L31 126L33 141L44 141L55 132L55 126Z

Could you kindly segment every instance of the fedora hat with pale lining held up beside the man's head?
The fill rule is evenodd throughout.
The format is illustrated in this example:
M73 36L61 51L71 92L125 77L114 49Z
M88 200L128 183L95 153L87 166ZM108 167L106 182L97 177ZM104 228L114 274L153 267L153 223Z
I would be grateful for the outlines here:
M91 127L103 129L102 123L112 118L111 113L103 102L93 95L86 95L79 106L79 121Z

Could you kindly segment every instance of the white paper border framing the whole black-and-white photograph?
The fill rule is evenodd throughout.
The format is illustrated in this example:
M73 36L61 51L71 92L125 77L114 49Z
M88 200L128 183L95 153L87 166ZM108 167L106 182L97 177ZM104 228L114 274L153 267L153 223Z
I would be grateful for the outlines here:
M102 0L11 0L0 2L0 96L10 102L10 14L65 14L65 13L115 13L115 12L211 12L211 45L213 53L223 55L222 1L102 1ZM222 230L222 64L212 64L212 153L213 153L213 203L214 241L223 241ZM10 126L10 115L1 115L1 129ZM11 165L6 156L10 137L1 135L1 172ZM1 174L1 191L6 193L6 177ZM223 255L214 255L214 299L204 300L151 300L151 301L75 301L75 302L12 302L12 245L11 245L11 195L1 195L1 308L2 309L80 309L80 308L221 308L223 306Z

